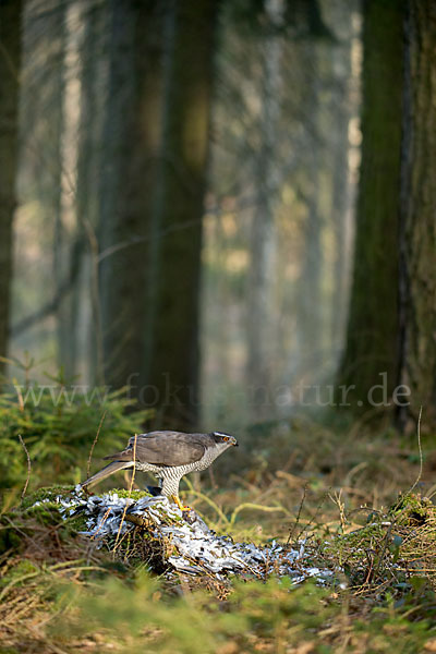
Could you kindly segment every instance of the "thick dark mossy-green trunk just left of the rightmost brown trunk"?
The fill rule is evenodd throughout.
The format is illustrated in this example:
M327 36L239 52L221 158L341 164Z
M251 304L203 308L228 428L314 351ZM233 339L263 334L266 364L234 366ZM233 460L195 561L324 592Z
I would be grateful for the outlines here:
M363 3L362 165L347 343L337 379L354 385L348 398L354 411L368 408L367 393L383 384L382 373L388 396L398 376L402 7L398 0Z

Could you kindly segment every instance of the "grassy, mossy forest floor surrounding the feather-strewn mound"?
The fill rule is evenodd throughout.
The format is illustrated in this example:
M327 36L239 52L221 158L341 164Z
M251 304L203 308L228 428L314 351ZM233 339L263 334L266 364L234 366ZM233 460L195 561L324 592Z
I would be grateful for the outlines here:
M304 541L314 566L332 570L328 585L159 576L118 547L96 549L50 510L29 511L32 496L4 506L0 652L436 652L432 440L421 469L413 438L294 420L252 432L250 449L237 463L222 457L202 487L182 483L218 534Z

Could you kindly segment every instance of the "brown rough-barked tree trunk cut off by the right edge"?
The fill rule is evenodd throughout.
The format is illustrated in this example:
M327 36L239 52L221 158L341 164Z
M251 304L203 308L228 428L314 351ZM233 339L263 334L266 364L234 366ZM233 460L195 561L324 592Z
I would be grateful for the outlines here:
M405 20L400 221L400 383L411 390L399 409L404 426L436 428L436 4L409 0ZM404 398L402 398L404 400ZM405 398L407 400L408 398Z

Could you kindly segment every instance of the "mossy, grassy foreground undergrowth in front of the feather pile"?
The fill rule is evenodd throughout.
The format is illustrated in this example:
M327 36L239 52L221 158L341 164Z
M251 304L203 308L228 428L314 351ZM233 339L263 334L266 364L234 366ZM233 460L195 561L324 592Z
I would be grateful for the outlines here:
M0 652L434 651L435 508L419 495L365 511L351 531L339 511L328 540L313 531L313 565L337 571L317 588L159 578L123 548L95 549L77 517L62 520L50 499L69 491L40 489L1 517Z

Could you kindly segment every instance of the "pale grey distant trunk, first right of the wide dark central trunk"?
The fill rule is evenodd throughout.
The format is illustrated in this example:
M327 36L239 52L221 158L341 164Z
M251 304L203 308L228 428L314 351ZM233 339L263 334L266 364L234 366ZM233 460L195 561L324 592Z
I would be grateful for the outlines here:
M270 34L263 35L262 43L261 147L256 162L256 204L250 249L247 307L247 386L252 388L253 417L257 420L265 420L271 415L271 372L277 364L278 335L275 328L274 289L277 265L275 210L278 171L275 154L280 114L282 39L278 28L282 23L282 2L266 0L265 14Z

